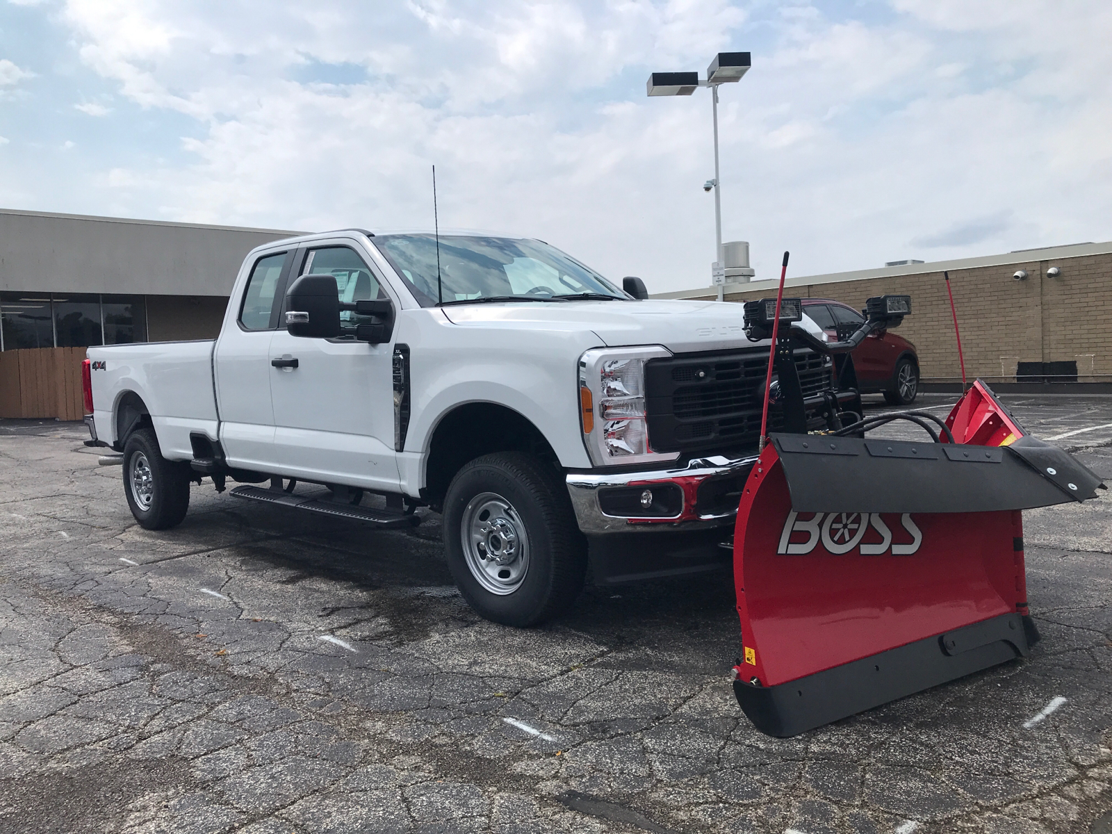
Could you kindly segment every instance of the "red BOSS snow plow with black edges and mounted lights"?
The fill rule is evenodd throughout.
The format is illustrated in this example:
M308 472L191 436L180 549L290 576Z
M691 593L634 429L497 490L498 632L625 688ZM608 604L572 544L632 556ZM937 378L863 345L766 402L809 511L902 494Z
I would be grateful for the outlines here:
M734 535L734 693L758 729L781 737L1025 656L1039 635L1022 510L1103 486L1027 435L980 380L944 421L927 411L864 418L860 399L840 413L838 391L854 383L848 350L898 324L910 298L870 299L868 321L825 344L792 325L793 301L780 307L787 325L770 395L787 430L753 467ZM767 338L776 309L746 304L751 338ZM800 430L792 417L793 342L835 354L826 428ZM922 440L871 436L896 420L925 429Z

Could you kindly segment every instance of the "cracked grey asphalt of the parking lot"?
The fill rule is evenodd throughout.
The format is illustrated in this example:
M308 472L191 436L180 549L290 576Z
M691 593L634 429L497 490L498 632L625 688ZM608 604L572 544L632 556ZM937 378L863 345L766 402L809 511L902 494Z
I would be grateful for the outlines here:
M1004 399L1042 437L1112 424L1110 397ZM722 576L506 628L438 516L206 484L149 533L86 437L0 421L0 832L1112 831L1112 493L1024 514L1029 658L774 739L727 681ZM1112 428L1058 443L1112 483Z

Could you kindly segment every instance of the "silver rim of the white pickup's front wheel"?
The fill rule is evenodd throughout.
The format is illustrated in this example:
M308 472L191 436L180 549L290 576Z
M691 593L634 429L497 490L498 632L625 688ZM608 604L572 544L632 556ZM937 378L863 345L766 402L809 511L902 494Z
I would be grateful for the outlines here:
M464 508L459 534L471 576L492 594L513 594L529 569L529 537L508 500L480 493Z

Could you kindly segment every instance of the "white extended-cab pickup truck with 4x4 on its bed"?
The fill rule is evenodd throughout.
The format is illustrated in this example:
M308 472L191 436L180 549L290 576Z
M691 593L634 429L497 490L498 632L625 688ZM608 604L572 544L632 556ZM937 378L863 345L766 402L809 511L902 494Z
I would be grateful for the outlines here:
M566 608L588 566L600 584L728 567L771 342L741 305L624 287L532 239L268 244L217 339L89 349L89 443L122 453L149 529L179 524L205 477L379 526L431 507L464 597L506 624ZM830 355L788 354L793 430L860 411ZM786 413L774 401L773 425Z

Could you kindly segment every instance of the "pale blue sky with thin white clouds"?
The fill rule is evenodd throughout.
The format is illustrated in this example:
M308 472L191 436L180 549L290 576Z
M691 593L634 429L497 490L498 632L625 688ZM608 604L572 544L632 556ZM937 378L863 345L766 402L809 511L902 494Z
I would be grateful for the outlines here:
M1106 0L0 0L0 207L536 237L706 287L1112 239Z

